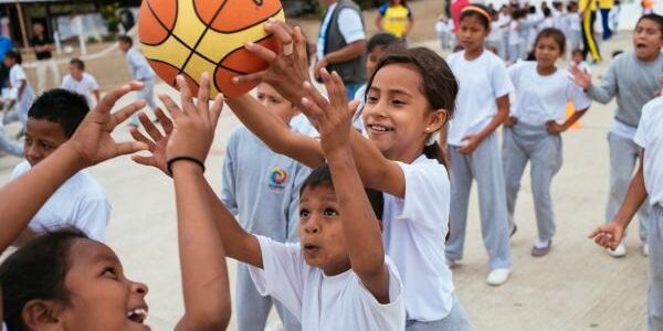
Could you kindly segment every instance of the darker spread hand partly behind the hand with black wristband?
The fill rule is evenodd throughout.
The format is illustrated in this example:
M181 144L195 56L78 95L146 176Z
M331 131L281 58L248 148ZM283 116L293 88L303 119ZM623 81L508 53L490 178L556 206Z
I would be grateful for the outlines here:
M138 119L149 138L145 137L137 128L131 128L129 132L136 141L147 145L147 150L151 152L151 156L144 157L135 154L131 157L131 160L138 164L155 167L167 175L170 175L170 173L168 173L168 160L166 159L166 146L168 145L170 134L172 134L172 121L160 108L155 109L155 115L164 129L164 134L161 134L151 120L149 120L147 115L144 113L139 114Z

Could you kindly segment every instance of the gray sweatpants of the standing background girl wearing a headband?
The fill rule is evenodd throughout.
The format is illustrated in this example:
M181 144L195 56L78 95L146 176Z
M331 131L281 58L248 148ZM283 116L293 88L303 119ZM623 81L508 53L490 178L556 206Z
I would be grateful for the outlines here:
M478 186L481 233L488 252L490 267L511 268L509 226L504 196L504 171L497 135L486 138L467 156L460 147L449 146L451 156L451 238L446 245L446 258L461 259L467 227L467 204L472 180Z

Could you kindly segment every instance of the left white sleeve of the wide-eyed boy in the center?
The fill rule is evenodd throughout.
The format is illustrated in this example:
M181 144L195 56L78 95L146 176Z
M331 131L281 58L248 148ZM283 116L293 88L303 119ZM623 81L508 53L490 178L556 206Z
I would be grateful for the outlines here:
M263 268L249 266L249 274L261 296L276 298L298 320L302 319L304 269L306 265L297 244L282 244L255 236L260 243Z

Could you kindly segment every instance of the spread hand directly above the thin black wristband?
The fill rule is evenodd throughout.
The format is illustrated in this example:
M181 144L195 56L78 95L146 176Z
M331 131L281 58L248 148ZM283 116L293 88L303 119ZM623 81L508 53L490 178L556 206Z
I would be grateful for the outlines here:
M191 89L185 77L179 75L176 81L182 108L180 109L170 97L160 96L175 122L166 145L166 158L168 162L181 158L193 159L202 166L214 139L214 129L223 108L223 97L219 95L212 107L209 107L210 75L208 73L203 73L200 78L197 103L193 103Z

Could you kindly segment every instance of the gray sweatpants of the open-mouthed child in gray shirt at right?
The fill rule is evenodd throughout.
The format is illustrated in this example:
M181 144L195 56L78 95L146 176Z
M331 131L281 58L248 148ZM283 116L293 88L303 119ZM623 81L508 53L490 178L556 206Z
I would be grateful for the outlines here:
M606 207L606 223L612 222L624 202L629 184L633 178L633 171L635 170L635 163L642 151L642 148L633 140L612 132L608 134L608 146L610 147L610 195L608 196L608 206ZM646 243L651 211L652 207L649 204L649 200L638 211L640 239L642 243Z

